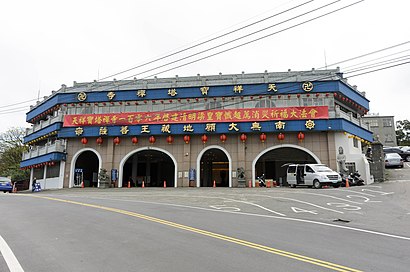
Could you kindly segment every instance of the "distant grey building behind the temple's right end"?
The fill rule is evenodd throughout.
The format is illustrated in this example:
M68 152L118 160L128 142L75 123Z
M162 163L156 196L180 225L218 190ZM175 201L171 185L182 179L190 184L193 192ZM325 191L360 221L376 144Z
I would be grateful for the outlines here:
M369 124L373 140L378 140L384 146L397 146L394 116L365 115L363 121Z

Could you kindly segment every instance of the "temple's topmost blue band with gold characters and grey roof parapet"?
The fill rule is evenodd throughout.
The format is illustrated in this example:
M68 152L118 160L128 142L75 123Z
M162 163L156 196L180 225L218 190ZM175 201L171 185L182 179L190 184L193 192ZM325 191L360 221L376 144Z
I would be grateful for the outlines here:
M142 81L110 81L75 83L63 86L58 92L27 113L27 121L36 123L50 111L61 105L105 103L146 103L164 100L185 101L187 104L198 99L238 98L268 96L281 98L292 94L333 93L341 103L353 105L359 115L369 109L369 101L363 94L349 86L338 70L241 74L227 76L186 77L152 79ZM192 99L190 101L190 99ZM157 110L158 106L155 106ZM115 109L113 109L115 110Z

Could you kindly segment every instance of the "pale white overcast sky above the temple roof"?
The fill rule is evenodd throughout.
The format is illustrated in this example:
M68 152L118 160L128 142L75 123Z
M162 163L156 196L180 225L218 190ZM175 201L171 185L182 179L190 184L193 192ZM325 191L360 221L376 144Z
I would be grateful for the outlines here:
M52 90L58 90L61 84L72 86L73 81L102 79L306 2L308 0L1 1L0 132L10 127L29 127L25 122L29 105L35 104L38 94L42 99ZM331 66L333 63L410 41L410 1L406 0L365 0L302 24L355 1L341 0L309 13L332 2L312 1L115 78L149 77L280 30L283 31L257 42L157 76L297 71L326 65L335 68ZM300 16L302 14L306 15ZM296 18L284 22L293 17ZM275 24L261 33L144 73ZM284 30L295 24L301 25ZM381 59L388 55L391 56ZM354 64L401 58L387 66L397 65L409 61L405 58L409 55L410 43L406 43L337 66L345 72L358 67L350 67ZM371 62L360 66L369 64ZM382 67L374 69L379 68ZM370 112L394 115L396 121L410 119L410 64L352 77L348 82L366 92Z

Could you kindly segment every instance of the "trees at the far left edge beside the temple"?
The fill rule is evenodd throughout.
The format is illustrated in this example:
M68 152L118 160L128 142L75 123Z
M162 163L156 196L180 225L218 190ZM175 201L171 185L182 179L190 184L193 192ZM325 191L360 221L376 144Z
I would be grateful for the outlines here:
M20 169L23 152L27 151L24 135L24 128L11 128L0 134L0 176L10 176L15 181L29 178L29 172Z

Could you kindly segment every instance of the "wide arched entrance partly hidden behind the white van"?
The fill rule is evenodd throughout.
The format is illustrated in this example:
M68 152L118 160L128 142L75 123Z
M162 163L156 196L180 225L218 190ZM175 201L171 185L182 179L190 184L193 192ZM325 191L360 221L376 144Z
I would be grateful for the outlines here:
M256 177L265 174L266 179L272 179L279 183L286 181L284 166L289 163L320 163L319 158L310 150L297 145L280 145L264 150L253 161L253 182Z

